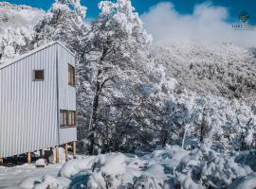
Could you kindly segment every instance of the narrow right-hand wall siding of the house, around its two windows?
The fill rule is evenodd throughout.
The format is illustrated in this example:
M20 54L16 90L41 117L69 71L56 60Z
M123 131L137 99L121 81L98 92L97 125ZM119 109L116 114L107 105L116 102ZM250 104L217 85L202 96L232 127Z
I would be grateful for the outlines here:
M68 85L68 64L75 67L75 57L63 46L58 46L59 107L60 110L76 111L76 88ZM77 140L77 129L60 129L60 144Z

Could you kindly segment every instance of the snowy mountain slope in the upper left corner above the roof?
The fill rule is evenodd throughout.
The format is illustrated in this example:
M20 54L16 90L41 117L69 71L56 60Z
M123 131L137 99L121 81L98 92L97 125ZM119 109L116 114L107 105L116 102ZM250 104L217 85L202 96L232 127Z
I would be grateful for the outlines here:
M20 54L27 46L35 26L46 15L42 9L0 2L0 63Z

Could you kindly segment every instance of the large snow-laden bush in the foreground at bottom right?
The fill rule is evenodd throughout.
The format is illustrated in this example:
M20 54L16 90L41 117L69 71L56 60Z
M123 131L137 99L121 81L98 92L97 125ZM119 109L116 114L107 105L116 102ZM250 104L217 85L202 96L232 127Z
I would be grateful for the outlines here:
M184 157L175 174L182 188L227 188L232 181L247 176L252 170L235 163L233 158L208 147L193 150Z

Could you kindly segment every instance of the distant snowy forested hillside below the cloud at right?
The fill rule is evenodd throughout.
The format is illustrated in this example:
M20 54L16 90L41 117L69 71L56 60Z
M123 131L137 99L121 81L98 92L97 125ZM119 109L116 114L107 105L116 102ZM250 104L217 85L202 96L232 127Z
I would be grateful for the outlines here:
M153 56L178 81L178 89L256 100L256 51L233 43L173 43Z

